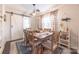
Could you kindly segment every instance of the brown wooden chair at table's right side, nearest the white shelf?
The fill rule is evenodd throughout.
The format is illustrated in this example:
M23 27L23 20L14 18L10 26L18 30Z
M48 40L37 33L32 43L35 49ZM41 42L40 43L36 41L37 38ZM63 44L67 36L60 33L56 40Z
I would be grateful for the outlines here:
M59 34L59 32L54 32L51 37L51 40L47 40L46 42L42 43L43 47L50 50L50 52L53 53L55 49L58 47Z

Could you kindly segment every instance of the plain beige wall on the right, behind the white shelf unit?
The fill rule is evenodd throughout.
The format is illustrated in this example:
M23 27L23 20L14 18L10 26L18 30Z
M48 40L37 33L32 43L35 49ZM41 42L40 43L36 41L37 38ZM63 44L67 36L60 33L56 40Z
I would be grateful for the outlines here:
M71 30L71 47L77 49L79 47L79 5L62 5L58 10L59 22L65 17L71 18L68 23Z

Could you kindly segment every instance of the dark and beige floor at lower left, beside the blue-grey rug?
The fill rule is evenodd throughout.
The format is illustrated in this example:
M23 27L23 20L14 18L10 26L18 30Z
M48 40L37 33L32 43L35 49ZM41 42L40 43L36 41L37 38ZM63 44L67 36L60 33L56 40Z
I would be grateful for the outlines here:
M16 48L17 41L22 41L22 39L6 42L5 48L2 54L17 54L17 48Z

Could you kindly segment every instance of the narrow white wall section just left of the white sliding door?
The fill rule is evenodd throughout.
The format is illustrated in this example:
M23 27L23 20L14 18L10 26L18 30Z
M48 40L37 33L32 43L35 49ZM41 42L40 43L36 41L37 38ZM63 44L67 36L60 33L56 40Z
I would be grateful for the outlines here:
M6 21L3 23L3 34L5 41L10 40L10 14L6 13Z

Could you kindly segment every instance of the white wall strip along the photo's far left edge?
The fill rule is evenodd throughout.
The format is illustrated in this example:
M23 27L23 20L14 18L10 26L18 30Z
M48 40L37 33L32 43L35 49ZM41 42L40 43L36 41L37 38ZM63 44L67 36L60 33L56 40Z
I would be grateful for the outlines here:
M1 5L0 6L0 16L3 16L4 15L4 13L5 13L5 10L3 10L3 9L5 9L5 7L4 7L4 5ZM3 51L3 49L4 49L4 45L5 45L5 39L4 39L4 37L5 37L5 35L4 35L4 18L0 18L0 53L2 53L2 51Z

